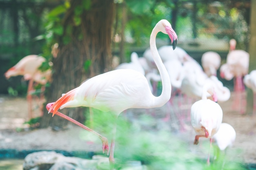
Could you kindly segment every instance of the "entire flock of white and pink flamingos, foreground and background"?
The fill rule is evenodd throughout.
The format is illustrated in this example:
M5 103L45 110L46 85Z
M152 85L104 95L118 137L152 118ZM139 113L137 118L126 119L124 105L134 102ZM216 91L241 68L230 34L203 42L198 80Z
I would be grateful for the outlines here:
M156 36L159 32L168 35L171 45L157 49ZM236 50L236 42L231 40L226 63L221 65L220 55L209 51L202 55L201 66L176 44L177 35L171 24L167 20L160 20L150 35L150 48L142 57L132 52L131 62L115 65L113 71L88 79L79 87L63 94L56 102L47 104L47 110L52 116L63 117L99 137L103 153L109 155L110 170L115 166L117 118L130 108L149 109L166 106L163 121L168 122L176 118L182 129L185 129L184 124L189 121L191 129L195 132L193 144L198 145L199 139L204 137L210 139L210 147L214 141L220 150L225 150L234 143L236 132L231 125L222 123L225 113L222 112L219 103L227 102L231 97L231 91L218 79L217 74L220 70L220 77L223 79L234 79L234 92L239 95L245 89L243 84L247 88L252 88L256 101L256 70L248 74L249 54ZM29 80L29 102L33 82L45 85L50 81L51 71L42 72L38 69L42 62L45 62L43 57L29 55L4 74L7 79L23 75ZM158 82L162 83L162 92L159 96L155 95ZM237 106L238 102L239 100L236 100L234 105ZM185 105L189 111L187 113L183 112ZM110 145L103 135L58 111L80 106L96 108L115 117L112 122L114 128ZM255 110L256 105L254 112ZM239 111L244 113L242 109ZM29 117L32 117L30 112L31 108ZM171 114L172 112L174 114ZM210 149L207 163L210 163Z

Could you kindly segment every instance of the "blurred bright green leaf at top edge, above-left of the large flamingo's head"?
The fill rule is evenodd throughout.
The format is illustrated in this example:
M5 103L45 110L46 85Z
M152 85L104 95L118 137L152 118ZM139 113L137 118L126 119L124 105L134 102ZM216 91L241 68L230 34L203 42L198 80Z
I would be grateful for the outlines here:
M130 8L132 13L144 14L150 11L155 4L154 0L128 0L126 1L127 6Z

